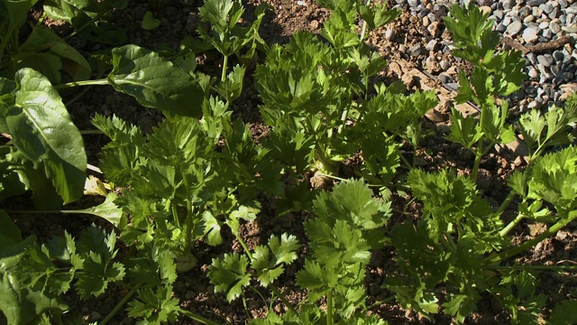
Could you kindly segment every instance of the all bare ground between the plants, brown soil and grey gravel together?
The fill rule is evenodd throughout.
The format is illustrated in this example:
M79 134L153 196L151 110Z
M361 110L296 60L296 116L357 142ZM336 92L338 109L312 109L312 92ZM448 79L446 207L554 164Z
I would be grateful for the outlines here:
M474 1L474 0L471 0ZM450 102L458 85L457 70L466 68L462 60L451 55L451 38L444 28L442 17L447 14L448 6L455 1L450 0L389 0L389 6L402 9L401 16L388 26L372 32L369 42L375 50L389 61L389 69L382 71L383 79L403 79L414 88L433 88L440 97ZM466 4L469 1L459 1ZM305 30L319 33L323 22L328 17L327 10L316 5L314 0L249 0L243 1L247 9L245 19L252 19L252 9L256 5L267 3L273 8L264 18L261 25L261 36L269 43L288 42L289 36L297 31ZM551 105L562 105L567 94L577 89L577 3L574 0L503 0L490 2L480 0L482 10L489 12L495 20L495 28L501 33L504 49L515 48L524 51L527 60L526 72L529 76L524 87L511 96L503 98L510 102L510 118L515 119L519 113L527 109L547 109ZM127 9L115 14L114 23L128 32L129 43L155 49L168 44L172 49L179 46L180 40L188 34L196 34L197 7L201 0L175 0L161 8L156 13L160 19L160 27L151 31L141 28L142 17L151 5L146 1L130 1ZM99 50L93 44L73 39L75 47L86 52ZM78 45L78 46L77 46ZM207 72L218 70L217 64L210 56L199 58L199 67ZM66 98L65 98L66 101ZM258 113L259 98L252 86L252 80L245 80L245 90L242 98L234 103L234 116L251 123L255 134L262 132ZM110 116L115 114L144 130L150 130L152 125L160 121L161 116L149 109L142 108L132 98L114 92L112 88L92 88L74 103L69 104L69 112L81 130L94 129L89 121L96 112ZM475 107L465 106L471 114ZM443 165L451 165L461 172L470 172L472 156L460 145L448 143L443 135L446 125L450 123L446 107L439 107L437 112L426 116L425 126L435 130L435 136L428 138L423 147L431 153L423 158L423 164L431 169ZM99 148L105 143L101 135L86 135L89 163L97 165ZM514 148L515 149L515 148ZM524 162L519 158L522 151L503 151L490 153L490 157L481 163L480 189L488 199L498 205L506 196L506 179L508 173L516 168L522 168ZM260 240L277 233L279 229L297 235L301 242L305 241L302 222L307 216L304 213L291 214L283 218L274 215L273 210L263 209L258 224L249 224L243 228L243 237L248 243L258 244ZM267 212L269 211L269 212ZM266 215L269 213L270 215ZM67 217L69 218L69 217ZM63 222L61 216L29 219L26 224L30 233L41 231L45 237L61 234L64 228L74 230L92 222L91 218ZM559 259L577 260L575 251L575 228L563 229L556 238L545 241L536 247L530 255L520 257L528 263L550 264ZM515 233L518 239L535 236L539 228L524 226ZM206 267L211 263L211 257L231 249L237 249L238 243L231 239L224 246L210 247L200 245L198 251L199 265L197 270L179 276L175 283L175 295L182 305L212 320L230 323L243 323L252 317L259 317L266 311L266 305L261 299L249 292L245 310L240 301L229 304L221 294L214 294L214 288L206 278ZM391 252L375 252L373 263L367 277L370 303L378 302L389 296L383 290L381 274L387 272L390 265ZM302 261L291 265L285 277L280 279L281 289L289 292L292 302L300 301L304 292L300 292L294 283L294 273ZM540 290L555 298L575 297L577 295L577 279L571 276L552 274L543 280ZM73 313L81 314L84 320L97 321L108 313L124 293L124 289L113 288L117 294L105 294L102 299L91 299L87 302L78 301L72 293L68 300L75 308ZM275 310L281 306L275 302ZM421 320L413 311L405 311L394 302L383 303L373 311L390 324L419 324ZM452 320L439 316L435 323L450 324ZM481 306L471 323L493 324L508 322L507 314L495 306ZM126 314L119 314L112 323L132 324L134 320ZM182 324L190 324L191 320L182 320Z

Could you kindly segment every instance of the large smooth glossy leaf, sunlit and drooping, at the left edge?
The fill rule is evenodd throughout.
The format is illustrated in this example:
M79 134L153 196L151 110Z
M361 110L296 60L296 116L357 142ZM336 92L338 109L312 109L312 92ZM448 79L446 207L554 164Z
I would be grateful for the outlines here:
M84 141L72 123L62 99L39 72L16 73L16 103L6 114L14 146L44 172L64 202L84 192L87 156Z

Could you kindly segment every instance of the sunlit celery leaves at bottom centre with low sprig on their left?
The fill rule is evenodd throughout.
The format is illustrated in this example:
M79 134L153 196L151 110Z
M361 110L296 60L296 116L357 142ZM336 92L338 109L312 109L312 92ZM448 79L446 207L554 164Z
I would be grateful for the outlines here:
M297 285L307 290L307 301L292 306L273 284L298 257L294 236L272 235L267 246L245 250L245 255L225 254L213 259L208 276L215 292L226 293L230 302L243 295L243 287L252 280L269 287L289 308L282 316L269 312L252 324L333 324L361 321L385 324L375 316L367 317L364 289L365 267L371 249L384 246L383 226L392 215L390 202L372 197L363 180L343 181L332 192L322 191L314 200L316 217L305 223L310 240L310 256L297 274ZM249 272L250 270L250 272ZM256 290L255 288L253 288ZM326 299L326 311L316 303Z

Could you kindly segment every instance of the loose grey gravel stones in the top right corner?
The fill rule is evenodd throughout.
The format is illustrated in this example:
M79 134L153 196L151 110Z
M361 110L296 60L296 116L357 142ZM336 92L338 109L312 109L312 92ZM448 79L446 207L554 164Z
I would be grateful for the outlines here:
M577 39L577 0L458 0L458 3L467 5L471 1L479 5L482 11L490 13L496 31L526 47L551 42L564 35ZM424 27L436 38L423 46L414 45L405 50L408 55L417 57L439 47L444 53L450 52L450 42L439 39L444 27L436 22L438 17L435 17L435 12L441 6L450 7L455 2L457 0L396 0L400 8L421 18ZM517 103L512 107L514 113L548 107L563 96L564 89L568 89L564 85L577 84L577 49L574 41L551 51L529 52L524 58L527 60L525 72L528 80L519 93L511 96ZM430 66L430 61L430 58L423 60L423 67ZM442 71L446 71L452 63L440 60L439 65ZM439 78L445 83L456 82L444 73Z

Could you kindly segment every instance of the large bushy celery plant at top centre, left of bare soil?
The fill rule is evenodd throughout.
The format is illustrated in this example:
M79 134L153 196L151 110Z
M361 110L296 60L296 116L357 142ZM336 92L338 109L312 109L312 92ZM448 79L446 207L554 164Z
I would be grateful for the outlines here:
M361 151L360 176L386 184L400 165L397 138L417 145L419 117L435 107L435 94L407 95L400 82L370 91L386 62L353 32L355 21L361 16L374 29L397 17L397 9L358 1L321 5L333 11L321 32L325 40L297 32L288 44L274 45L255 72L270 144L295 153L287 163L297 174L310 168L336 174L340 162Z

